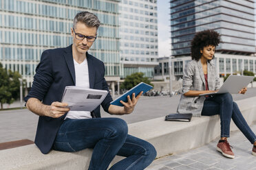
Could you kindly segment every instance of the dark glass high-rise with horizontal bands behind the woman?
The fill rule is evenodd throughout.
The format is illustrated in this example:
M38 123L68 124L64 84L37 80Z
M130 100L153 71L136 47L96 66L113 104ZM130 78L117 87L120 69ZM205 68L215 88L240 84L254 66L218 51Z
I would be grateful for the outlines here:
M251 0L171 0L171 49L173 72L182 77L189 60L191 40L196 32L214 29L221 42L215 65L220 75L242 70L256 73L255 8ZM185 57L185 58L184 58Z

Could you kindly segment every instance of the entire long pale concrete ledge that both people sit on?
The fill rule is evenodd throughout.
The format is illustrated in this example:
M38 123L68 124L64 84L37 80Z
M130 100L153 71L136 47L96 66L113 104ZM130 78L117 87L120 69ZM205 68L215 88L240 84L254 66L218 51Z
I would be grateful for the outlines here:
M256 97L237 104L248 124L256 120ZM191 122L164 121L164 117L131 123L129 134L152 143L158 157L200 147L220 136L219 116L193 117ZM231 130L237 130L232 122ZM92 149L75 153L51 151L41 154L35 145L0 151L0 169L87 169ZM112 164L122 159L116 156Z

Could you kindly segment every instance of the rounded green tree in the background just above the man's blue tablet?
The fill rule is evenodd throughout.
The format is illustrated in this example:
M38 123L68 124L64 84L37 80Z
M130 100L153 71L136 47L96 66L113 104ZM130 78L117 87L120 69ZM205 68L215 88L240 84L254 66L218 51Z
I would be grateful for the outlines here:
M125 78L125 82L123 82L120 86L121 89L129 90L139 84L140 82L145 82L151 86L153 84L150 83L148 77L144 77L144 73L133 73L131 75L127 75Z

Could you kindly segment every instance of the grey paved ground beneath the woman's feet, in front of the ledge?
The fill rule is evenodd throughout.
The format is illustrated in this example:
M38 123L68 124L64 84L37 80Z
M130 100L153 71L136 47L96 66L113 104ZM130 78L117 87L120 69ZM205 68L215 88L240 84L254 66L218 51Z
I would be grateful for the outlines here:
M251 126L256 132L256 123ZM175 138L173 139L175 140ZM197 149L191 149L182 153L164 156L147 167L147 170L255 170L256 156L251 154L253 145L245 138L242 132L231 132L228 142L233 146L234 159L225 158L216 150L219 138Z

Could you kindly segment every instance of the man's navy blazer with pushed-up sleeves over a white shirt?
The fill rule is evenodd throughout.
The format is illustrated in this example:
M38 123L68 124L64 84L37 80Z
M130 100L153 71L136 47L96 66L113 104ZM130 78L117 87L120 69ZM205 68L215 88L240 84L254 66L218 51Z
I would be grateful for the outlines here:
M89 55L89 53L86 53L86 56L89 71L89 87L109 90L104 77L104 63ZM25 97L25 101L34 97L45 105L51 105L54 101L61 101L65 86L75 86L75 84L76 77L72 45L66 48L45 50L42 53L39 65L36 67L34 82L28 96ZM111 95L108 93L101 103L106 112L108 112L110 101L112 100ZM52 149L56 134L66 114L58 119L39 117L34 143L43 154L47 154ZM100 106L94 110L94 114L96 117L100 117Z

